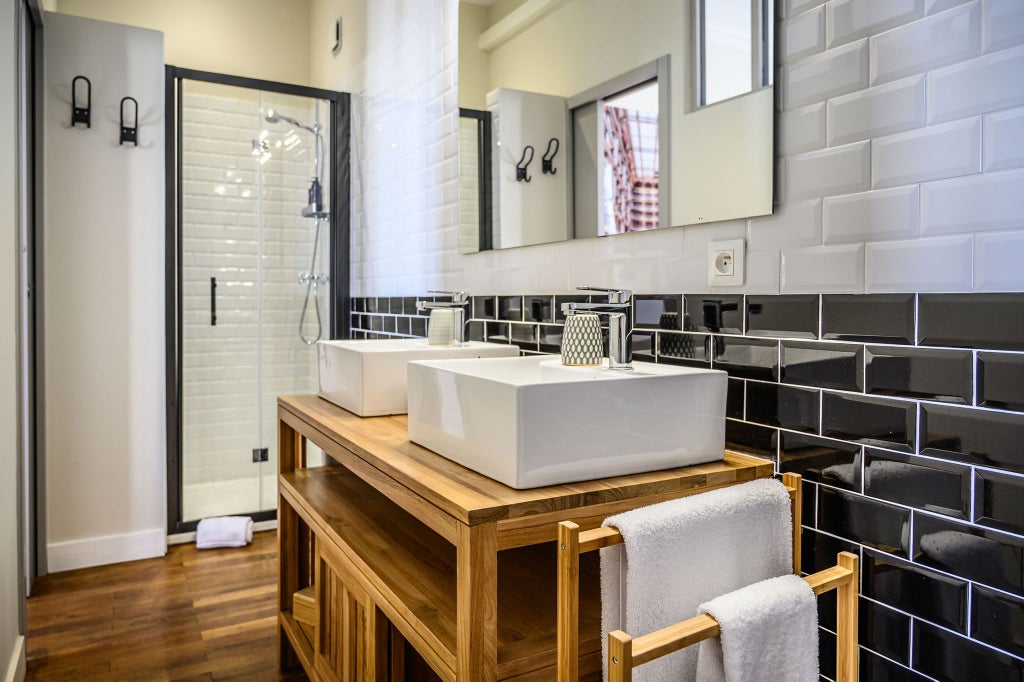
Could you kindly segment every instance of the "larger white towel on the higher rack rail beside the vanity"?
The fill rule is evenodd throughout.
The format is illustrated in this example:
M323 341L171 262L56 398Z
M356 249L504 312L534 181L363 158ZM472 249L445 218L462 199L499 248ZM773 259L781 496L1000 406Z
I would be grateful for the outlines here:
M790 496L774 479L641 507L604 525L624 539L601 550L605 647L612 630L645 635L691 617L709 599L793 572ZM637 668L633 679L693 680L695 674L696 647L687 647Z

